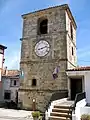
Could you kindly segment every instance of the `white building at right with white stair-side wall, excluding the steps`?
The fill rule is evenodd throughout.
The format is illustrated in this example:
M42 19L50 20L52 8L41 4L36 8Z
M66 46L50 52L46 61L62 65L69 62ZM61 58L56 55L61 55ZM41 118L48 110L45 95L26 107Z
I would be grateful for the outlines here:
M67 76L69 99L76 99L72 119L80 120L82 114L90 114L90 66L69 69Z

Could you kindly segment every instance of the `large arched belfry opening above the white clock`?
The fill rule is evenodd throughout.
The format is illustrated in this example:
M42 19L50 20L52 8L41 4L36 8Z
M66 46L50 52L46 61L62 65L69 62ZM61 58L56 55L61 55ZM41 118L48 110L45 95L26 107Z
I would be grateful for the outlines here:
M48 20L40 18L38 20L38 34L47 34L48 32Z

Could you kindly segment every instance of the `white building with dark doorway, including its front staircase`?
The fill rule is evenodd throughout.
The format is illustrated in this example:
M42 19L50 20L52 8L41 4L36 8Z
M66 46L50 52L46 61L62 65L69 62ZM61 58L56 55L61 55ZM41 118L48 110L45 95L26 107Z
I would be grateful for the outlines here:
M46 120L48 118L59 119L60 115L63 118L69 118L69 116L65 116L67 112L63 111L66 106L66 109L72 110L72 120L80 120L83 114L90 115L90 66L68 69L66 74L68 78L68 95L66 98L59 95L60 99L51 101L46 111ZM63 114L64 112L65 114Z

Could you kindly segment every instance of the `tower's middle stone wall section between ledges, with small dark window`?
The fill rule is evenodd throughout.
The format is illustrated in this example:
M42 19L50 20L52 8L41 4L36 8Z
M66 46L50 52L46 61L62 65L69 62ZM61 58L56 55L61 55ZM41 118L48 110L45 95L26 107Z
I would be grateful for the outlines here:
M53 71L56 66L60 66L58 78L53 79ZM23 65L22 69L25 69ZM67 89L67 76L65 73L66 62L60 61L57 63L30 63L27 65L28 74L25 76L24 89L50 89L50 90L65 90ZM32 87L32 79L37 80L37 86Z

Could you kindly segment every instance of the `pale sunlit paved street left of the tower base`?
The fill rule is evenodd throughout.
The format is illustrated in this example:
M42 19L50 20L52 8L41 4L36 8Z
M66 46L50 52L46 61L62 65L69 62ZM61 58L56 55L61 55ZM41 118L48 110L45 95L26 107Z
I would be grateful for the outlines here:
M32 120L31 112L0 108L0 120Z

